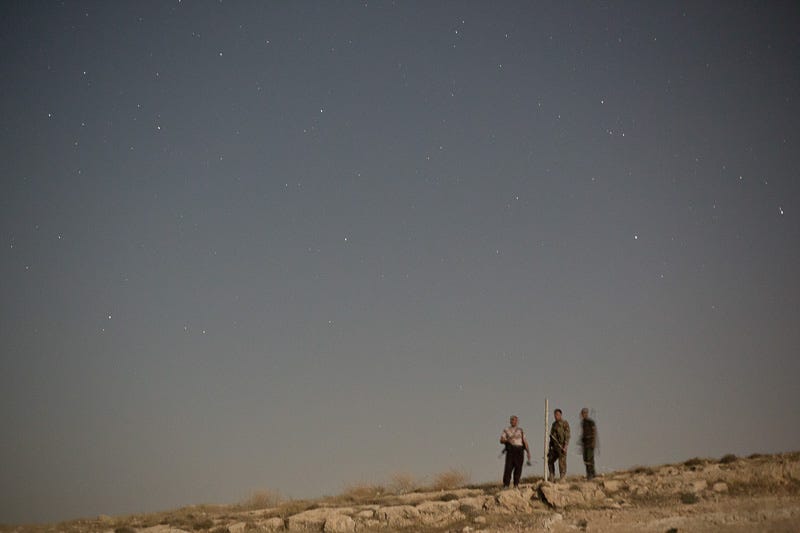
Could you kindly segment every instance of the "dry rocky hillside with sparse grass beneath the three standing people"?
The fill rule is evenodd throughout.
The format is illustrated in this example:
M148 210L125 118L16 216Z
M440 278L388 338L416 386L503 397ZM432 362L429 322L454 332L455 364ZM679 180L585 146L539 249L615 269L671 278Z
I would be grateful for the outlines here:
M483 485L289 501L263 509L196 506L52 526L4 526L0 531L800 531L800 452L691 459L610 473L588 482L530 479L519 490Z

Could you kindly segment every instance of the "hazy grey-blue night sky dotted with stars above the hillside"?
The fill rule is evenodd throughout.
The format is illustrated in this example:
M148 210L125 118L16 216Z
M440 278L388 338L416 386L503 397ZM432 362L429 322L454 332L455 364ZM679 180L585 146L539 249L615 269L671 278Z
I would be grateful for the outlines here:
M800 448L799 26L3 2L0 522Z

